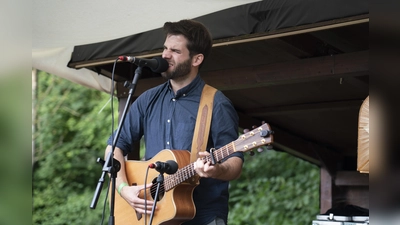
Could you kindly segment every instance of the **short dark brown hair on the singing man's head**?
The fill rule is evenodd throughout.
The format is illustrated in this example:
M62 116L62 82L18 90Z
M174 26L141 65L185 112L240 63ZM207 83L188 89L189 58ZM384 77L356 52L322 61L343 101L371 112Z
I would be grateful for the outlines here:
M204 60L211 52L212 38L208 29L200 22L194 20L180 20L164 24L165 36L183 35L187 40L189 56L203 54Z

